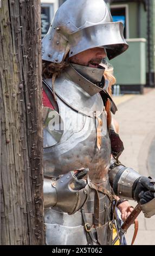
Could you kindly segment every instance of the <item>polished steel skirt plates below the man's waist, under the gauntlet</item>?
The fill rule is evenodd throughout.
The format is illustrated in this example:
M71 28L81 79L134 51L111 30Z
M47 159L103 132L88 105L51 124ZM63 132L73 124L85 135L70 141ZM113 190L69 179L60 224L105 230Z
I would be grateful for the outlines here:
M110 190L108 180L100 184L100 186ZM103 209L100 209L100 227L95 229L93 228L94 211L92 211L92 209L94 209L94 195L95 192L92 190L89 194L87 203L83 206L86 212L86 221L91 225L91 231L95 239L99 239L101 245L108 245L111 244L110 236L112 235L112 230L109 230L111 203L107 196L103 196L103 194L99 192L100 206L102 205ZM92 205L89 203L90 201ZM107 211L105 210L105 206ZM73 215L68 215L54 207L45 209L44 215L47 245L88 245L80 210ZM102 238L102 236L104 236L104 238ZM93 242L93 244L98 245L99 243Z

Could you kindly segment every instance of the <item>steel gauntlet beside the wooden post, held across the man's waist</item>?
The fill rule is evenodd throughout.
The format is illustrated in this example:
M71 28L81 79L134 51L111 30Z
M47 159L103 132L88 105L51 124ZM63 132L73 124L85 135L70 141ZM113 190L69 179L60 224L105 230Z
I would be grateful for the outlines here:
M44 179L44 207L56 206L68 214L78 211L85 204L91 188L85 184L85 187L77 190L76 181L78 179L73 171L56 181Z

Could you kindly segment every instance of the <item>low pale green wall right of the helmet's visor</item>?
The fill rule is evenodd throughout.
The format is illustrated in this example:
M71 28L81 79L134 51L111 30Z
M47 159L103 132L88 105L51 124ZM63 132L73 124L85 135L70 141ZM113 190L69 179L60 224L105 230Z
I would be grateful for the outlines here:
M145 39L128 41L129 48L125 53L111 60L117 84L146 84L146 51Z

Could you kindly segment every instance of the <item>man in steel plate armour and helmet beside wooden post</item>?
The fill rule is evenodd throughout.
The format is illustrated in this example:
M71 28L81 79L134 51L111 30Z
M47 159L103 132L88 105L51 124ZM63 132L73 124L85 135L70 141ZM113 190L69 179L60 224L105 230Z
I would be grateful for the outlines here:
M117 107L100 66L127 48L103 0L67 0L42 40L47 245L111 245L116 196L155 214L154 180L118 160Z

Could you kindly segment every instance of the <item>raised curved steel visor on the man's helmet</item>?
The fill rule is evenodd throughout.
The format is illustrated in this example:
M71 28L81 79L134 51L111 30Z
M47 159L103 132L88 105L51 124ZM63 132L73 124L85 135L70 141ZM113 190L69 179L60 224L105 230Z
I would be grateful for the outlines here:
M69 57L95 47L106 48L108 59L113 59L128 48L121 22L108 22L80 29L69 35Z

